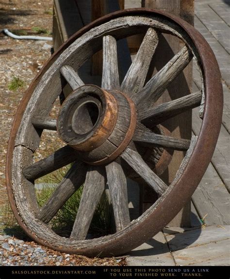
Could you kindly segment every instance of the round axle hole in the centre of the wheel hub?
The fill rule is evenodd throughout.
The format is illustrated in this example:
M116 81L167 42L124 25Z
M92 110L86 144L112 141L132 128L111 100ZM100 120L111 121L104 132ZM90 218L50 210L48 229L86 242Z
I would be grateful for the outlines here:
M86 101L75 110L71 125L76 134L84 135L93 129L98 119L98 105L93 101Z

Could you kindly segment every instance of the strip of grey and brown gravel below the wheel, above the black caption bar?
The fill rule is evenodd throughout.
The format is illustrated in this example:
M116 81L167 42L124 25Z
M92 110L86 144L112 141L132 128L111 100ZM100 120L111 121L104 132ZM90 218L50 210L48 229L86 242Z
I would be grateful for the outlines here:
M124 258L93 258L53 251L32 242L0 235L0 265L126 265Z

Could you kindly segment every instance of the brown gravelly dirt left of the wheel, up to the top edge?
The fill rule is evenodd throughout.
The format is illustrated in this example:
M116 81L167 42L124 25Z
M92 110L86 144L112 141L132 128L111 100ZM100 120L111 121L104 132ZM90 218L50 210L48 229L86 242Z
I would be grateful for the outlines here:
M52 32L52 0L1 0L0 31L6 28L16 34L34 34L34 28ZM12 121L26 88L50 56L51 42L15 40L0 33L0 205L7 202L5 158ZM13 77L24 81L16 91L8 89Z

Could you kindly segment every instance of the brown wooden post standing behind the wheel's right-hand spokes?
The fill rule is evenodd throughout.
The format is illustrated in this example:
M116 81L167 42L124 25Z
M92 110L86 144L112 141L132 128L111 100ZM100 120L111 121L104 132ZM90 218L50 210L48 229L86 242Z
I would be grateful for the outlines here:
M194 23L194 0L142 0L142 6L146 8L160 9ZM162 35L156 53L154 54L154 72L159 71L179 50L183 43L176 37L165 34ZM192 87L192 62L185 68L169 86L168 90L158 100L158 103L168 102L190 93ZM172 133L172 137L191 139L192 133L192 113L184 112L166 122L164 126ZM168 170L163 175L163 180L171 183L185 153L175 151L173 159L168 166ZM145 197L143 197L145 199ZM190 227L191 202L181 210L181 212L170 222L171 227Z

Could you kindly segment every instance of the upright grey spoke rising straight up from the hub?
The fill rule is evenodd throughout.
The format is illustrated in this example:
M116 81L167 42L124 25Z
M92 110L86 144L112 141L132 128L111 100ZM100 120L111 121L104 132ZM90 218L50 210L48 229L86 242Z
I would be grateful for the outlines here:
M120 88L116 39L109 35L103 37L103 71L101 87L104 89Z

